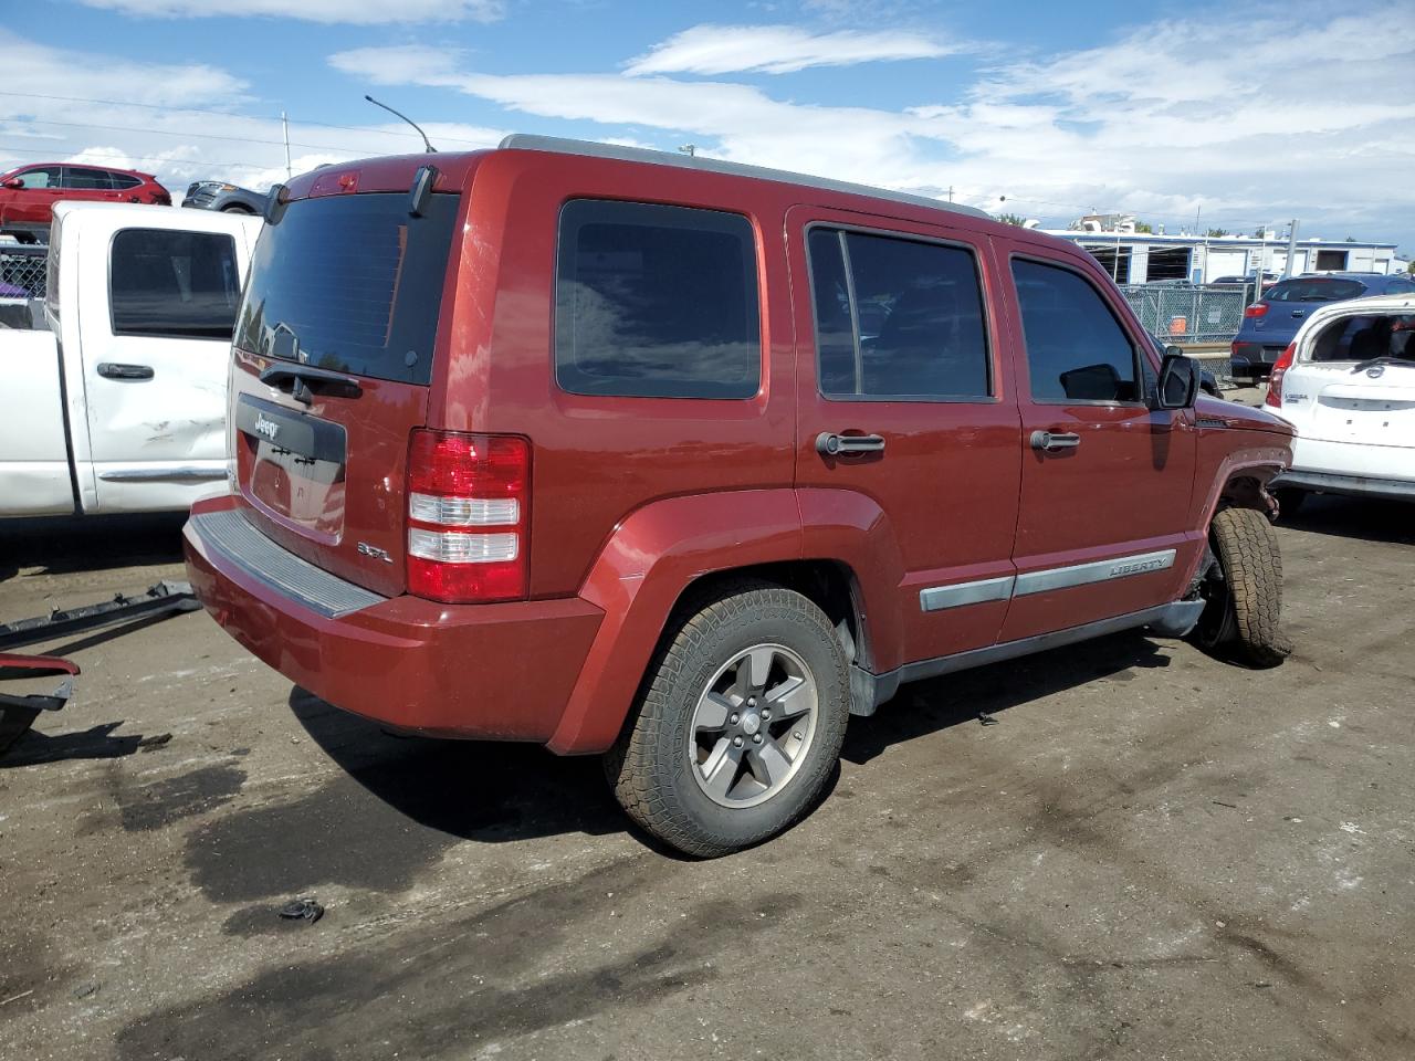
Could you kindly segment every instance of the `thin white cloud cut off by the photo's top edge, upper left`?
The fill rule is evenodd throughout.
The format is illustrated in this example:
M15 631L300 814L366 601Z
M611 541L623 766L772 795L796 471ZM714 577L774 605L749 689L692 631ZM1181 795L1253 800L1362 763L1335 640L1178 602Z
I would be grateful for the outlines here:
M389 23L494 23L505 0L79 0L142 18L300 18L310 23L386 25Z

